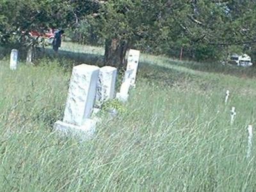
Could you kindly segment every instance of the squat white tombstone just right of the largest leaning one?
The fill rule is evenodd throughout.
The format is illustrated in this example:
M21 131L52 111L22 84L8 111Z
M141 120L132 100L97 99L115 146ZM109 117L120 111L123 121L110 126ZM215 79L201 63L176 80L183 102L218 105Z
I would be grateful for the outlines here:
M99 70L95 104L100 108L103 102L115 98L117 70L115 67L105 66Z

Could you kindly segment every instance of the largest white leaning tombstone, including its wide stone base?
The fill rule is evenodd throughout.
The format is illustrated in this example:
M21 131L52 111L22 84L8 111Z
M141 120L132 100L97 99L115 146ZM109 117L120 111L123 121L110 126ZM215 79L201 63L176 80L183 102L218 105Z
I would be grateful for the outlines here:
M83 137L92 138L96 122L90 117L98 76L99 67L96 66L82 64L73 68L63 121L54 125L57 130L65 133L82 131L85 133Z

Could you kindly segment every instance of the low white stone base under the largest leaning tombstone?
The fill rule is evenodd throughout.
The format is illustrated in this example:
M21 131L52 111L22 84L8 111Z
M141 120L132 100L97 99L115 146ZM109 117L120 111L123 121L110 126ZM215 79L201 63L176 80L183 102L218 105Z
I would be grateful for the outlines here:
M63 132L65 135L76 135L83 140L92 139L95 134L97 121L87 118L84 125L77 126L65 122L57 121L54 124L56 131Z

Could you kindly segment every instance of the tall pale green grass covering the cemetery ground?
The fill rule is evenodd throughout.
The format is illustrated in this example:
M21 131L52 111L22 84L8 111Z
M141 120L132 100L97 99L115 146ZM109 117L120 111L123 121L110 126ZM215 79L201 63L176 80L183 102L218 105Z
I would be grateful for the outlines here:
M255 191L254 146L246 158L255 68L142 54L122 113L79 142L52 125L63 117L72 65L100 63L103 50L65 43L62 54L74 60L15 72L0 61L0 191Z

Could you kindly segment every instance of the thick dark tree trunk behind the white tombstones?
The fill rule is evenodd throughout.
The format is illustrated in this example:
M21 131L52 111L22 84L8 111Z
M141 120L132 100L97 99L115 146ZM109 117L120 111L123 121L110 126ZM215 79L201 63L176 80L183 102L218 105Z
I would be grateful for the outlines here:
M118 69L124 68L127 49L128 43L126 40L107 39L105 42L104 65L110 65Z

